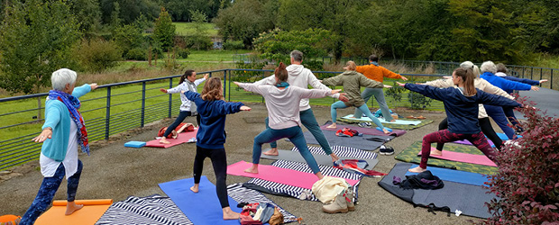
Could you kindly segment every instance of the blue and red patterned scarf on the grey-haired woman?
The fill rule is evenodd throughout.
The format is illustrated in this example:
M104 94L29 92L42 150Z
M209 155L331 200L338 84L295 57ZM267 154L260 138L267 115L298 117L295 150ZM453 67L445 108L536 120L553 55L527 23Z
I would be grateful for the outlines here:
M78 127L78 143L81 147L81 151L87 153L87 156L89 156L89 141L87 140L86 124L84 123L84 118L81 116L81 113L78 111L79 107L81 107L79 99L72 94L58 90L50 90L49 99L58 99L66 105L66 108L69 110L70 117L74 122L76 122L76 126Z

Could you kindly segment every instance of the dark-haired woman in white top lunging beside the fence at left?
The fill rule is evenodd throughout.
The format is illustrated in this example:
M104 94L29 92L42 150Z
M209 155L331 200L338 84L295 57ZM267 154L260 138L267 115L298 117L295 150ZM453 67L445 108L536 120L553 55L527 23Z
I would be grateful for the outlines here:
M208 76L209 75L206 74L203 78L196 79L196 72L194 70L188 69L182 76L180 76L179 85L170 89L161 88L160 91L167 94L181 93L183 91L197 92L197 85L202 84ZM180 104L179 116L177 116L177 119L175 119L175 121L170 124L167 130L165 130L163 137L161 137L160 139L160 143L162 144L170 144L169 140L167 140L167 137L173 130L175 130L175 128L177 128L177 126L179 126L182 121L185 120L185 118L187 118L187 116L196 115L197 124L198 126L200 125L200 116L197 113L196 104L188 101L187 97L184 94L180 94L180 102L182 103Z

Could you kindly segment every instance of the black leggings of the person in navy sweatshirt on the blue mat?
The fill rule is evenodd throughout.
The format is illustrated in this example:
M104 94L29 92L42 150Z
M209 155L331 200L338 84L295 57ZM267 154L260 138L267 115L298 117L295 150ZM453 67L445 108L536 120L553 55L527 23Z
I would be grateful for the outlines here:
M194 184L200 184L200 177L202 176L202 169L204 168L204 159L209 157L212 159L215 172L215 191L217 198L221 203L221 208L229 206L227 199L227 157L225 155L225 148L211 149L196 147L196 157L194 158Z

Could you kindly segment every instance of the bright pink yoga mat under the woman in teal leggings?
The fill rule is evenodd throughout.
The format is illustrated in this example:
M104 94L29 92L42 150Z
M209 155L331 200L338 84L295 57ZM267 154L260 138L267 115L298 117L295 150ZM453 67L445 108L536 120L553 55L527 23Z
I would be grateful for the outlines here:
M270 165L259 165L258 174L245 173L244 170L251 167L252 163L240 161L238 163L227 166L228 175L242 175L246 177L259 178L280 184L288 184L302 188L312 189L313 184L318 181L316 175L300 172L293 169L280 168ZM347 183L355 185L359 181L345 179Z

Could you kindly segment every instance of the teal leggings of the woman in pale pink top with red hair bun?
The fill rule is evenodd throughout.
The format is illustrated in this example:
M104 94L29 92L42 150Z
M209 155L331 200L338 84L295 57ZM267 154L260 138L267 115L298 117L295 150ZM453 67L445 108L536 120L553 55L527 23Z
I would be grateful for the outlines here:
M307 148L307 141L303 135L303 130L300 127L290 127L281 130L274 130L267 128L261 131L260 134L254 137L254 145L252 146L252 163L259 164L260 156L262 153L262 144L270 143L271 141L288 138L291 142L299 149L299 153L305 161L307 161L308 166L313 171L313 174L320 172L318 164L316 164L315 157L310 153Z

